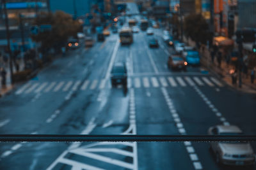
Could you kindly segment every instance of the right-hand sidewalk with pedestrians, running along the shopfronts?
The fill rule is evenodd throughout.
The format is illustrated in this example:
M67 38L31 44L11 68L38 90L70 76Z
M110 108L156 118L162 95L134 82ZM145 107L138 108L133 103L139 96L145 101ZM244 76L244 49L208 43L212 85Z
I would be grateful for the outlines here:
M254 81L254 83L251 83L250 71L248 71L247 75L245 75L244 73L241 73L242 88L239 88L238 78L237 78L237 83L235 85L232 84L232 78L230 74L230 69L234 68L232 64L227 64L224 60L222 60L221 67L219 67L216 57L214 58L214 63L212 63L211 54L206 47L204 51L202 50L202 48L200 49L200 54L202 56L201 58L202 65L205 66L207 69L210 69L213 73L218 74L218 76L220 76L222 80L225 81L225 83L227 83L230 87L233 87L243 92L256 93L256 80Z

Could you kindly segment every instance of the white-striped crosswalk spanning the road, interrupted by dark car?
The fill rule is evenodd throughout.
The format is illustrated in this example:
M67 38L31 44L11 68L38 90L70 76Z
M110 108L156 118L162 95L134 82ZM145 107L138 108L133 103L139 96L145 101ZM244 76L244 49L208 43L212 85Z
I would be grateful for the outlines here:
M157 88L157 87L223 87L223 83L211 76L134 76L127 80L128 88ZM111 89L109 80L76 80L38 82L29 81L20 87L15 94L30 94L39 92L68 92L76 90Z

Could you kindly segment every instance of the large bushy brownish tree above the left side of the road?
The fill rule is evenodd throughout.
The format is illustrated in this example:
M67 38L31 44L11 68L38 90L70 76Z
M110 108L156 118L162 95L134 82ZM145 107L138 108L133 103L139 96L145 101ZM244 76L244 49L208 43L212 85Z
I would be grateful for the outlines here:
M81 24L73 20L72 16L63 12L40 13L35 20L35 25L51 25L51 30L40 30L33 36L33 40L41 44L42 52L47 52L50 48L60 50L65 46L69 37L76 37L81 30Z

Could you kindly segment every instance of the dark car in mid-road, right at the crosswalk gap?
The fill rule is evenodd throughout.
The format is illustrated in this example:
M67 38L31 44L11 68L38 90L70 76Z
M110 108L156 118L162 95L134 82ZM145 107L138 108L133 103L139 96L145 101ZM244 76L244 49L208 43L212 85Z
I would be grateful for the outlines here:
M116 62L111 71L111 85L122 84L127 88L127 69L123 62Z

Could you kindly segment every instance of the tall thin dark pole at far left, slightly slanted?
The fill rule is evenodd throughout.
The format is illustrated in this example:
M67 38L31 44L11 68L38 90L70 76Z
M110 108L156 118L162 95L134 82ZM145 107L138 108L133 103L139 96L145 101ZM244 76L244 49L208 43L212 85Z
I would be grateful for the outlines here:
M7 15L7 10L6 10L6 0L3 0L4 4L4 17L5 17L5 27L6 27L6 39L7 39L7 50L10 55L10 73L11 73L11 83L13 83L13 67L12 67L12 51L10 47L10 31L9 31L9 21L8 21L8 15Z

